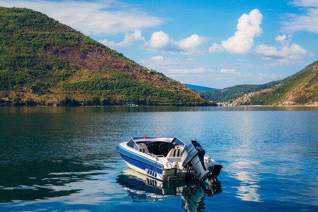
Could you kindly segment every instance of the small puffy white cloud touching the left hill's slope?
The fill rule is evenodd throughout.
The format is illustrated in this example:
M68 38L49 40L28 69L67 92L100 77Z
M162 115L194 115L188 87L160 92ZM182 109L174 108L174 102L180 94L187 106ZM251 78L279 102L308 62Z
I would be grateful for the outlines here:
M129 48L138 42L144 44L146 40L142 36L141 30L136 29L134 33L126 33L123 41L119 43L115 43L114 41L108 41L107 39L99 40L99 42L106 46L109 46L112 49L123 49L123 48Z

